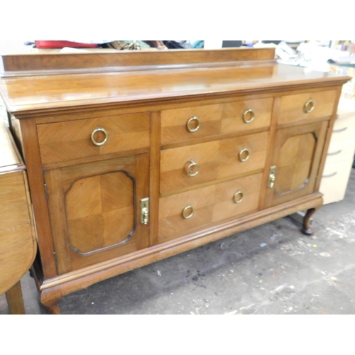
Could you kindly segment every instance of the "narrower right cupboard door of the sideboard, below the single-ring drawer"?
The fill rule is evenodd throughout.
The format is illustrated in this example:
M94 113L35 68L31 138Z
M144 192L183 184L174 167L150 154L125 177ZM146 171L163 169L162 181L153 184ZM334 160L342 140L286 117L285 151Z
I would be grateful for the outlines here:
M315 192L327 126L322 121L278 129L269 172L274 171L275 182L273 187L268 184L265 207Z

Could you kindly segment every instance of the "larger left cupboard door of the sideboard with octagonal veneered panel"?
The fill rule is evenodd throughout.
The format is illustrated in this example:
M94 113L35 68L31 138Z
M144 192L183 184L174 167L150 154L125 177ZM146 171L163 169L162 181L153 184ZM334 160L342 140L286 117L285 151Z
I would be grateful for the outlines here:
M45 171L59 274L148 246L148 163L141 154Z

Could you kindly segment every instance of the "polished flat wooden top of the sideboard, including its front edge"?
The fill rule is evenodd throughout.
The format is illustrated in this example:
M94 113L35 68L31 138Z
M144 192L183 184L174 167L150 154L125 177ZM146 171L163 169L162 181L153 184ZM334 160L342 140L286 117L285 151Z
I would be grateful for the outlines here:
M50 74L43 71L27 76L1 77L0 94L8 111L20 114L21 118L21 114L35 111L103 105L124 107L134 102L159 104L171 99L198 99L226 93L334 86L349 80L349 77L333 73L279 65L270 58L259 60L260 55L245 60L245 52L242 53L242 60L214 61L212 64L200 60L192 66L138 66L136 70L129 67L126 71L105 67L101 72L86 69L84 72L63 73L58 70ZM193 55L190 54L192 58ZM208 58L211 58L210 53Z

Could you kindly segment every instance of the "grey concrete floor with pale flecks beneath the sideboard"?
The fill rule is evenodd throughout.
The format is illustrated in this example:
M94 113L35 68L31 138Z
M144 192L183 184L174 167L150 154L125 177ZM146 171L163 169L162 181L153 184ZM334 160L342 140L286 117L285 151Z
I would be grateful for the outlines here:
M355 169L343 201L304 236L285 217L116 276L59 301L62 314L355 314ZM27 314L48 314L33 279ZM8 314L0 296L0 315Z

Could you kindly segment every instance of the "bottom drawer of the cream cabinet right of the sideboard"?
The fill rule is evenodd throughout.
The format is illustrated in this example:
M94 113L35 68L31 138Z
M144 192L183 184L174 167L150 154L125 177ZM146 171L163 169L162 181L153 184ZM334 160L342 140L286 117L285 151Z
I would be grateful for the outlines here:
M353 159L324 165L320 192L323 203L341 201L344 199L346 186L348 185Z

